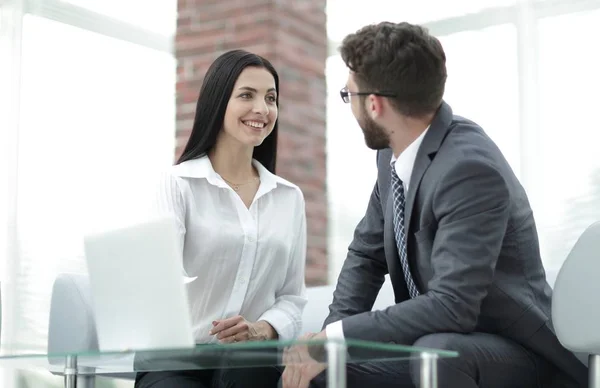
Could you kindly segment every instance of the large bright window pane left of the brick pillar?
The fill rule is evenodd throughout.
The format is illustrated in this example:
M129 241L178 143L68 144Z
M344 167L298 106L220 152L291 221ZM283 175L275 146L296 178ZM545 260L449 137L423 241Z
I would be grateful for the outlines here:
M127 222L172 163L174 88L169 53L24 17L16 343L45 344L55 276L85 271L82 235Z

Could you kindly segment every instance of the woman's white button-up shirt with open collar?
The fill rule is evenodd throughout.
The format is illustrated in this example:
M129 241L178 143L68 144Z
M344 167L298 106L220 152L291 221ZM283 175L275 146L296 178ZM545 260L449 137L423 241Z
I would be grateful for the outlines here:
M197 343L217 319L267 321L282 340L299 335L306 304L306 213L302 191L253 161L260 176L247 208L208 157L160 179L155 210L177 220Z

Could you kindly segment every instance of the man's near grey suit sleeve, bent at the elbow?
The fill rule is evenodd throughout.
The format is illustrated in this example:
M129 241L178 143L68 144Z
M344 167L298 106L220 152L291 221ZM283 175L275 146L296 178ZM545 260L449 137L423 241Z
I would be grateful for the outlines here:
M458 162L434 193L438 225L428 291L382 311L344 318L345 337L411 345L427 334L472 332L492 283L509 203L506 181L493 166Z

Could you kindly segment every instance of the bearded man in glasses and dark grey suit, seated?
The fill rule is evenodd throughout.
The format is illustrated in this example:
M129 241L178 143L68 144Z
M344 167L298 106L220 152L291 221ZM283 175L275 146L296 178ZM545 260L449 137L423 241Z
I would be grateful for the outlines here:
M438 362L440 387L587 386L586 366L554 333L523 187L485 132L442 100L439 41L419 26L381 23L347 36L341 54L350 69L342 98L378 150L378 176L324 330L308 337L458 351ZM388 273L396 304L371 311ZM347 381L410 387L418 366L350 364ZM318 385L323 371L288 366L283 385L320 374Z

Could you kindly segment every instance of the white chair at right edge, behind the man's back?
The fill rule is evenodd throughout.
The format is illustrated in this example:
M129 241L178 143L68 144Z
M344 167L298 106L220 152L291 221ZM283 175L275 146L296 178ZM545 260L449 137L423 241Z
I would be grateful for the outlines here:
M562 345L589 354L590 387L600 388L600 222L589 226L562 265L552 297L552 321Z

